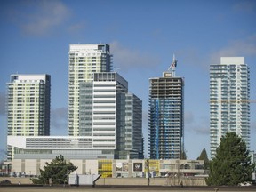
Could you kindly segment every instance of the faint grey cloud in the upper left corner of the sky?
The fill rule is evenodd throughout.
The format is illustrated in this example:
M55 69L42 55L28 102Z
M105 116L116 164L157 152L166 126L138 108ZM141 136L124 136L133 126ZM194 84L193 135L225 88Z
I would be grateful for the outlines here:
M68 7L59 0L21 1L16 8L10 8L12 20L26 35L42 36L60 27L68 17ZM22 11L21 11L22 10Z

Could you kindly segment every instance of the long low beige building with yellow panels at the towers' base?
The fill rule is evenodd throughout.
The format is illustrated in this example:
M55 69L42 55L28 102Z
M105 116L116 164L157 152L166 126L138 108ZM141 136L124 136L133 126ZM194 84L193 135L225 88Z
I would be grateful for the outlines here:
M65 158L65 156L64 156ZM66 158L65 158L66 159ZM46 162L52 159L13 159L12 175L37 176ZM164 177L175 180L178 177L204 175L204 160L147 160L145 159L68 159L77 166L73 174L100 174L101 178L151 178Z

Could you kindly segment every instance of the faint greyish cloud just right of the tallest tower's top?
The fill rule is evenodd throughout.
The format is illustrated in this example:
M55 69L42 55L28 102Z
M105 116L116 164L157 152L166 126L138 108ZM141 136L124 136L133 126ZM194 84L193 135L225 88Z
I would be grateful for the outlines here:
M160 63L159 59L149 52L132 50L114 41L110 43L111 52L114 54L114 63L117 68L129 70L131 68L153 68Z

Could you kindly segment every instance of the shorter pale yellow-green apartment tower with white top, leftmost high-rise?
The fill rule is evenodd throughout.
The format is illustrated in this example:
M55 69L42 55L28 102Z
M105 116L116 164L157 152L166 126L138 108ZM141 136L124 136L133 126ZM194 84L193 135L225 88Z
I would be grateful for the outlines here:
M50 135L51 76L11 75L7 87L8 135Z

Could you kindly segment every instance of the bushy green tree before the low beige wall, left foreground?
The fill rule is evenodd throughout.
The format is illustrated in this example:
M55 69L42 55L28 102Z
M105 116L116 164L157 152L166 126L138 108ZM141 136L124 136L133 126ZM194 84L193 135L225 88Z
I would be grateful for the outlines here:
M70 162L66 162L64 156L56 156L51 163L46 162L44 170L40 169L38 179L31 179L35 184L64 184L68 182L68 175L76 171L77 167Z

